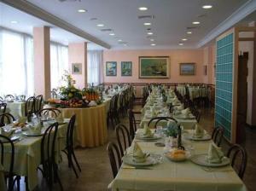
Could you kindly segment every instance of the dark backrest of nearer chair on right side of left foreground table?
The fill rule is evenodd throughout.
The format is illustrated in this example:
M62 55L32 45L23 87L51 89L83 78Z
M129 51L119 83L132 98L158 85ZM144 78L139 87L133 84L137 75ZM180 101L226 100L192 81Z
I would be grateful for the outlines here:
M52 165L55 163L55 140L58 131L58 123L50 124L44 131L41 142L41 162Z

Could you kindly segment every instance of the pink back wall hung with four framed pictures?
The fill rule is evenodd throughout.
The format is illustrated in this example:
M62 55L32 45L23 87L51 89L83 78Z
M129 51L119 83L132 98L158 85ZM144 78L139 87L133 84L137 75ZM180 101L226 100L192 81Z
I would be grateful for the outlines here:
M138 78L139 56L169 56L170 78ZM103 82L104 83L203 83L203 49L133 49L103 51ZM106 61L117 61L117 76L106 76ZM121 61L132 61L132 76L121 77ZM195 76L180 76L179 63L195 62Z

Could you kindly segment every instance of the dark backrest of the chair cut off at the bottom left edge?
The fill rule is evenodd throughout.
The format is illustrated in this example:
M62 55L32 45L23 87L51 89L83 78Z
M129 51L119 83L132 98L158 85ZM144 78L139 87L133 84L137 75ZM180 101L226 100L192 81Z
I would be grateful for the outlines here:
M9 145L9 147L7 147ZM5 152L5 149L7 150ZM6 168L6 177L8 178L8 188L12 190L13 187L13 171L15 162L15 146L14 143L7 136L0 135L0 162L1 165L6 164L4 160L8 160L9 168ZM7 154L9 153L9 154Z

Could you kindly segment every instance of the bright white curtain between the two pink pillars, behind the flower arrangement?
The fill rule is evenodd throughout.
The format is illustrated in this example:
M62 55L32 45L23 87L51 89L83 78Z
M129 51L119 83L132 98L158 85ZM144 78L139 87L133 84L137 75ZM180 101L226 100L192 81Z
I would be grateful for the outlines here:
M68 49L59 43L50 43L51 89L61 86L61 76L68 71Z

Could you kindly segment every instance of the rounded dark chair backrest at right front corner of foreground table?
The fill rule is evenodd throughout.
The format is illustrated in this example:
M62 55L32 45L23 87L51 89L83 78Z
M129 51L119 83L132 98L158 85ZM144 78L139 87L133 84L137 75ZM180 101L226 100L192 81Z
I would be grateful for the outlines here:
M235 144L230 147L227 157L230 158L231 166L236 171L238 177L242 179L247 167L247 151L240 145Z

